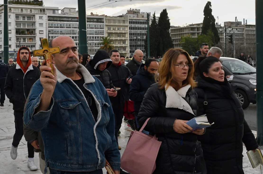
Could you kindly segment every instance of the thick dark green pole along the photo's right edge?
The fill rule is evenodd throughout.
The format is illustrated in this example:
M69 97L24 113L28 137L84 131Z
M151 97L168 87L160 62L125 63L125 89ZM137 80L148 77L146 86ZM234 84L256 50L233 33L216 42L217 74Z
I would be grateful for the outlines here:
M263 1L256 0L256 72L257 72L257 143L263 145L263 81L260 77L263 75L263 13L262 7Z

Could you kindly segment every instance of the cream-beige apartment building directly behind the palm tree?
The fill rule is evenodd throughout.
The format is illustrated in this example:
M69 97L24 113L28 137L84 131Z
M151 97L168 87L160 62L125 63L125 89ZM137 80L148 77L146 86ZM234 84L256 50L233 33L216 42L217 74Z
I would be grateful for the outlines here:
M111 37L115 49L118 49L121 55L129 56L128 16L105 16L105 35Z

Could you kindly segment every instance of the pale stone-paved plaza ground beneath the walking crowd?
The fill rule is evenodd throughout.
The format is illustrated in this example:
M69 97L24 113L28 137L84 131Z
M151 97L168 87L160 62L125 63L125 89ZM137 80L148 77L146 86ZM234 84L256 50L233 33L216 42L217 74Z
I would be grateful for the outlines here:
M18 146L18 156L16 160L12 160L10 157L10 149L13 140L13 135L15 132L14 126L14 115L13 115L13 105L9 103L6 98L4 106L0 107L0 174L41 174L40 170L30 171L27 167L27 142L24 137L22 138ZM126 147L127 141L129 139L130 132L132 131L130 127L123 122L121 127L121 133L119 136L119 145L122 147L120 153ZM256 136L256 131L252 131ZM260 174L260 167L252 169L249 159L246 155L246 148L244 146L243 150L243 169L245 174ZM38 153L35 153L35 163L39 169L39 158ZM103 170L106 173L106 170ZM136 174L136 173L133 173Z

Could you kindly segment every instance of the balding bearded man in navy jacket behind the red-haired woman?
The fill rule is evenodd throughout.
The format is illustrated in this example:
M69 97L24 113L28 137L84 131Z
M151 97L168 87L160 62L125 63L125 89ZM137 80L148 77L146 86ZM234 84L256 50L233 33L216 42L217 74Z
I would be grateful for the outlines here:
M143 96L147 89L155 83L154 76L157 73L158 61L149 58L146 59L145 64L141 64L137 74L133 77L130 84L129 97L134 102L135 120L138 127L137 116L143 101Z

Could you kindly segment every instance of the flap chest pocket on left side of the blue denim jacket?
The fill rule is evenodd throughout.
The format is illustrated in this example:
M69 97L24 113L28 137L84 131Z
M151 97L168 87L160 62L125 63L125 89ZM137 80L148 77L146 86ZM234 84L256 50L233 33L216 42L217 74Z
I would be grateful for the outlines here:
M83 113L80 111L80 102L78 100L60 101L60 114L64 122L76 124L83 119Z

